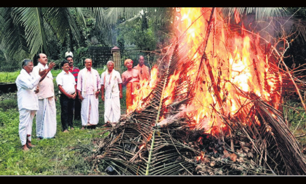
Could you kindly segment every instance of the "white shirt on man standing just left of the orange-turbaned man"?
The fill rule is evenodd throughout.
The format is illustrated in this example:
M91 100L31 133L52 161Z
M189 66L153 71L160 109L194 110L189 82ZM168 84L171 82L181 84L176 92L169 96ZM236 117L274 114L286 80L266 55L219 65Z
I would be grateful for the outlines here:
M101 85L104 85L105 98L118 97L120 94L118 84L122 83L120 73L113 71L111 73L106 70L101 74Z

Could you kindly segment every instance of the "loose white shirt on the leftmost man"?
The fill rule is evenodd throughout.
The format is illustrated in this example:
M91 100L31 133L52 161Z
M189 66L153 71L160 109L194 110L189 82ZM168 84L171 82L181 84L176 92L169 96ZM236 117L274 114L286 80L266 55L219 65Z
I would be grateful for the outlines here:
M38 110L38 96L34 92L41 77L22 69L16 79L18 109Z

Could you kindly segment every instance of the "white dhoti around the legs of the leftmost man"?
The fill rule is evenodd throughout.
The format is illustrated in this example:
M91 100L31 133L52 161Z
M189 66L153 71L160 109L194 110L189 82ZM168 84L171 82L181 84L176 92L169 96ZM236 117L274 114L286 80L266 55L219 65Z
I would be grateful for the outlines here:
M36 110L19 110L19 138L21 145L25 145L27 143L27 135L30 135L28 139L31 141L32 124L35 113Z

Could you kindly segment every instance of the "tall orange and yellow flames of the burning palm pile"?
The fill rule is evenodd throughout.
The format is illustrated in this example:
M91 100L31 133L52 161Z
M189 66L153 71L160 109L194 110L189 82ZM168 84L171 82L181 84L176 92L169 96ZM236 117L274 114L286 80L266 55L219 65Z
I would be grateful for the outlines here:
M241 34L230 32L217 11L214 11L213 26L206 41L211 11L212 8L177 8L177 35L182 35L180 47L187 50L191 64L186 65L185 60L179 63L169 77L162 99L164 106L173 102L178 80L193 84L193 96L186 106L190 127L216 135L229 131L221 112L229 119L239 118L245 120L245 124L260 125L258 117L248 118L253 102L241 93L254 93L269 102L273 95L278 95L275 84L281 78L273 72L267 53L260 49L259 35L250 34L244 28ZM204 60L203 55L206 56ZM128 113L143 108L142 100L152 91L156 79L157 67L153 67L151 81L141 82L141 88L135 91L138 97ZM274 103L279 101L273 101L272 105Z

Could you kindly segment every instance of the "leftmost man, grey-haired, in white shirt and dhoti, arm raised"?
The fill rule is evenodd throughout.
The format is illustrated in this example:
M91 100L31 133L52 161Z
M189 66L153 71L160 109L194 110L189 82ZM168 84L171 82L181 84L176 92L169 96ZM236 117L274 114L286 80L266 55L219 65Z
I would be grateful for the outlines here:
M36 86L47 70L42 70L38 76L32 74L33 62L30 59L22 61L22 69L16 79L17 102L19 110L19 138L22 149L29 150L34 147L31 144L32 124L36 111L38 110L38 96Z

